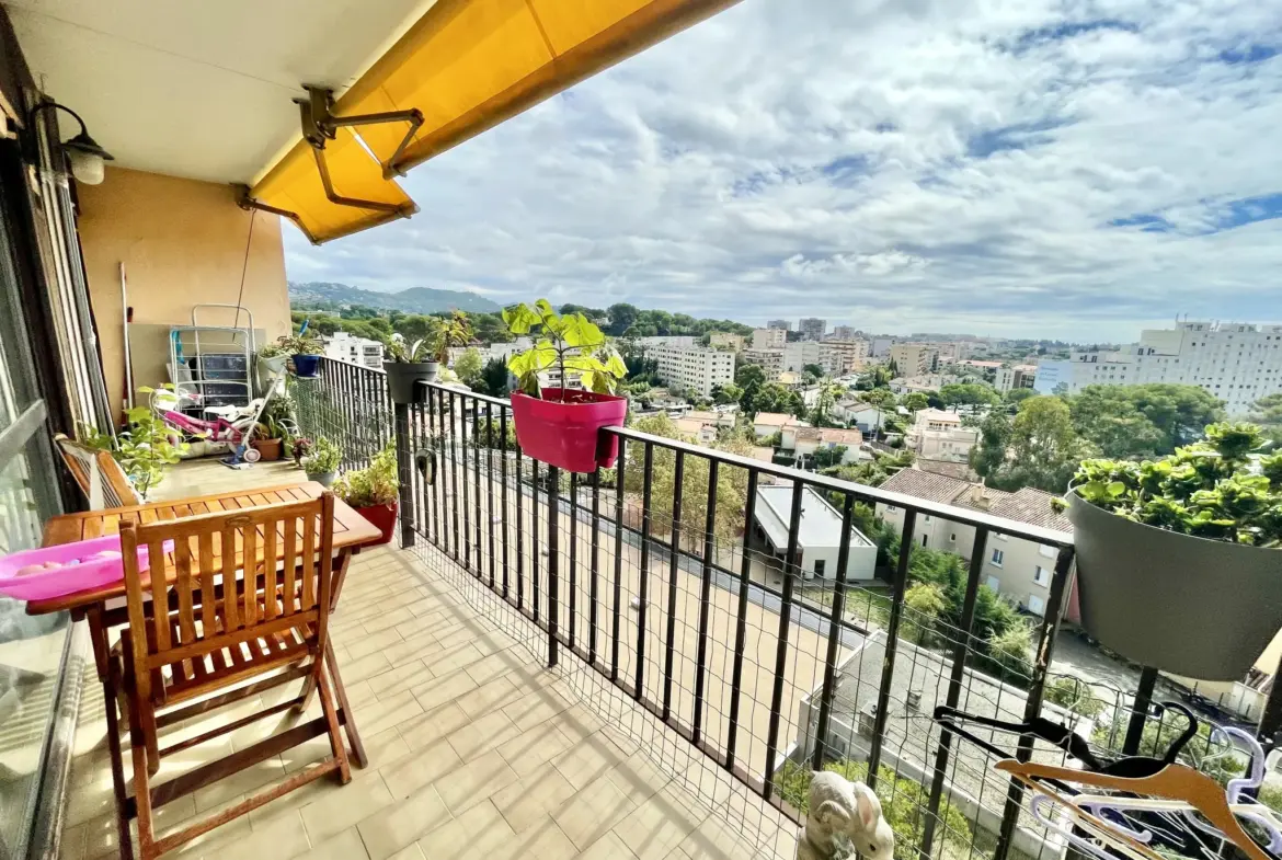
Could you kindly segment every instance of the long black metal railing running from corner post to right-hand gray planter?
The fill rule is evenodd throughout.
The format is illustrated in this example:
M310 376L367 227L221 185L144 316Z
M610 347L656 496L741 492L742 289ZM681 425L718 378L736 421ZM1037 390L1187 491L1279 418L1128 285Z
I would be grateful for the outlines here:
M665 764L692 791L722 772L801 820L810 769L837 766L895 810L901 857L1044 850L1019 787L958 750L931 714L950 705L1018 720L1058 707L1044 693L1070 536L628 428L603 431L619 442L613 469L567 475L522 452L505 400L429 385L424 402L399 409L401 459L417 465L403 542L541 631L538 655L618 728L654 740L649 719L681 738L683 757ZM869 551L886 547L855 524L886 506L904 511L901 534L879 578L856 581L856 555L864 574ZM906 599L917 525L931 517L974 529L951 619ZM808 522L820 519L831 538L815 577ZM1029 659L1001 678L974 628L981 597L992 600L982 581L996 536L1055 556ZM610 696L632 706L608 706ZM732 818L751 831L746 804Z

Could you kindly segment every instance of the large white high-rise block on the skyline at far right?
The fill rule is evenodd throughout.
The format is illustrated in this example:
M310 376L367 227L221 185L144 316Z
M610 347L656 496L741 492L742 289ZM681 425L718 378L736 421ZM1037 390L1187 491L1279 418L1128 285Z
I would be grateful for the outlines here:
M1197 386L1245 415L1260 397L1282 392L1282 326L1182 322L1145 329L1140 342L1117 352L1073 352L1041 361L1036 390L1076 393L1090 385L1173 382Z

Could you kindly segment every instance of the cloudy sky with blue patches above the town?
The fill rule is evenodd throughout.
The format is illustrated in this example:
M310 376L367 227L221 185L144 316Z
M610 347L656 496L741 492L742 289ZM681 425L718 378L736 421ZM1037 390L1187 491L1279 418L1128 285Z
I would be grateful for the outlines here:
M744 0L292 281L1133 341L1282 320L1282 0Z

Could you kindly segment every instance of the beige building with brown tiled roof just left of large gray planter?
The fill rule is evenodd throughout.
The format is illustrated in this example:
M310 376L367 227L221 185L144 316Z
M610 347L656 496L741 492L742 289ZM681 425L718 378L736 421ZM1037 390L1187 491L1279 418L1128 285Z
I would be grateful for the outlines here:
M959 481L944 474L923 472L915 467L901 469L881 486L915 499L982 510L997 517L1072 532L1068 518L1056 513L1050 502L1054 496L1041 490L1018 492L991 490L983 483ZM904 510L894 505L877 505L877 515L903 534ZM974 528L940 517L917 518L913 540L919 545L956 552L969 560L974 547ZM1049 600L1055 550L1018 537L992 533L983 547L981 582L1015 601L1022 609L1042 615Z

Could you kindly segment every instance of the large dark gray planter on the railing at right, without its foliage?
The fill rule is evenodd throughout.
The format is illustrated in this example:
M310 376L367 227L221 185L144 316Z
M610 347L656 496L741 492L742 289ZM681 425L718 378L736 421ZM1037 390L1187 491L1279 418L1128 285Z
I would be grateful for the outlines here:
M1124 657L1241 681L1282 629L1282 550L1210 541L1068 493L1082 627Z

